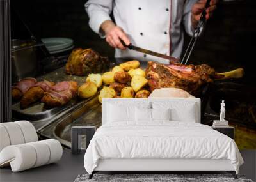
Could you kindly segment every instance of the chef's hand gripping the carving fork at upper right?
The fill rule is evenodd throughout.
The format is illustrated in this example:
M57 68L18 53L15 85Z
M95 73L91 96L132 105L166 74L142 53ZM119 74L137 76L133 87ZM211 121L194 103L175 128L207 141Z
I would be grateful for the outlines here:
M196 26L197 26L197 24L200 20L200 17L201 17L202 11L204 10L206 1L207 0L199 0L192 7L191 21L192 21L192 26L195 27L195 28L196 28ZM218 0L211 0L210 6L206 9L205 17L206 17L207 20L212 16L213 11L217 7L216 6L217 3L218 3Z

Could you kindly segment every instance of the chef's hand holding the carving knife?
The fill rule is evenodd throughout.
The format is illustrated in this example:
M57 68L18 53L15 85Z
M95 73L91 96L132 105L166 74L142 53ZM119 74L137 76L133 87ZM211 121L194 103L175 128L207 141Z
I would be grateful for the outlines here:
M131 43L123 29L116 26L111 20L106 20L100 27L106 34L106 42L108 42L111 47L123 50L126 49L120 42L120 39L123 40L126 45Z

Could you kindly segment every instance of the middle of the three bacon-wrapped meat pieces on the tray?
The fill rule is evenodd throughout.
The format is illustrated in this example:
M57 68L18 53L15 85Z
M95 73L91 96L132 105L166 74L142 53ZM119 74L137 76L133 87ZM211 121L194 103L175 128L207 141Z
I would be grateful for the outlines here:
M49 91L52 86L54 86L54 83L46 80L36 83L35 86L31 87L24 96L22 96L20 100L20 108L24 109L40 100L44 96L44 93Z

